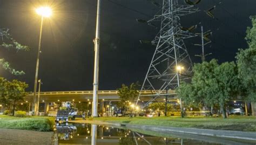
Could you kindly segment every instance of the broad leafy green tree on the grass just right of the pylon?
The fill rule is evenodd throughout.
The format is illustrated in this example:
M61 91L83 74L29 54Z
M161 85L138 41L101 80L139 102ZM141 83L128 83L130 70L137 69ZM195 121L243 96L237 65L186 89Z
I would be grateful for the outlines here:
M218 64L213 59L195 64L194 75L190 84L181 83L177 93L186 103L200 103L205 106L218 104L226 118L225 106L239 93L237 67L234 62Z

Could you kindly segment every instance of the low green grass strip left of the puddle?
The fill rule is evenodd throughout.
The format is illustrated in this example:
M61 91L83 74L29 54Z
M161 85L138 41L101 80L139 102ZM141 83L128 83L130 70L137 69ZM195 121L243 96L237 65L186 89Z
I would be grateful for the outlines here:
M0 128L36 130L49 132L53 130L54 118L41 116L27 116L17 118L14 116L0 115Z

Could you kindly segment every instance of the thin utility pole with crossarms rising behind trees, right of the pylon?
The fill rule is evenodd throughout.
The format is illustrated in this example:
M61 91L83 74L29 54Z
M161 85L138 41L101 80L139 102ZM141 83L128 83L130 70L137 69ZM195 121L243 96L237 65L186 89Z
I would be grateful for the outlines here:
M201 60L202 60L202 63L205 61L205 57L208 56L208 55L211 55L212 53L208 53L208 54L205 54L205 45L211 43L211 40L208 39L208 36L212 34L211 31L206 31L204 33L204 29L203 29L203 26L201 26L201 33L197 33L197 34L200 34L201 35L201 44L194 44L194 45L197 45L197 46L202 46L202 54L200 55L195 55L196 57L201 57ZM204 43L204 39L206 39L208 42L207 43Z

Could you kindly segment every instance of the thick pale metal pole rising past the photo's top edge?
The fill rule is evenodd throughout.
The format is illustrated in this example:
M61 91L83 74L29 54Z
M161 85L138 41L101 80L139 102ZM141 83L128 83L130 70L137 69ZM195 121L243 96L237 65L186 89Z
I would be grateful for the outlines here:
M94 60L94 77L93 77L93 98L92 98L92 117L98 117L98 82L99 82L99 29L100 29L100 0L97 6L96 21L96 38L93 40L95 44L95 60Z

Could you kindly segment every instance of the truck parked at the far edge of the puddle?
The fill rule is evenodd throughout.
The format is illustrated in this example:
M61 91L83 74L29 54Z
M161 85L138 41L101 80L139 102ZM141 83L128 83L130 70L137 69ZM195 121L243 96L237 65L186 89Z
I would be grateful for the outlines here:
M75 120L77 113L78 109L74 108L71 102L62 102L62 107L57 112L56 121L68 122L69 119Z

